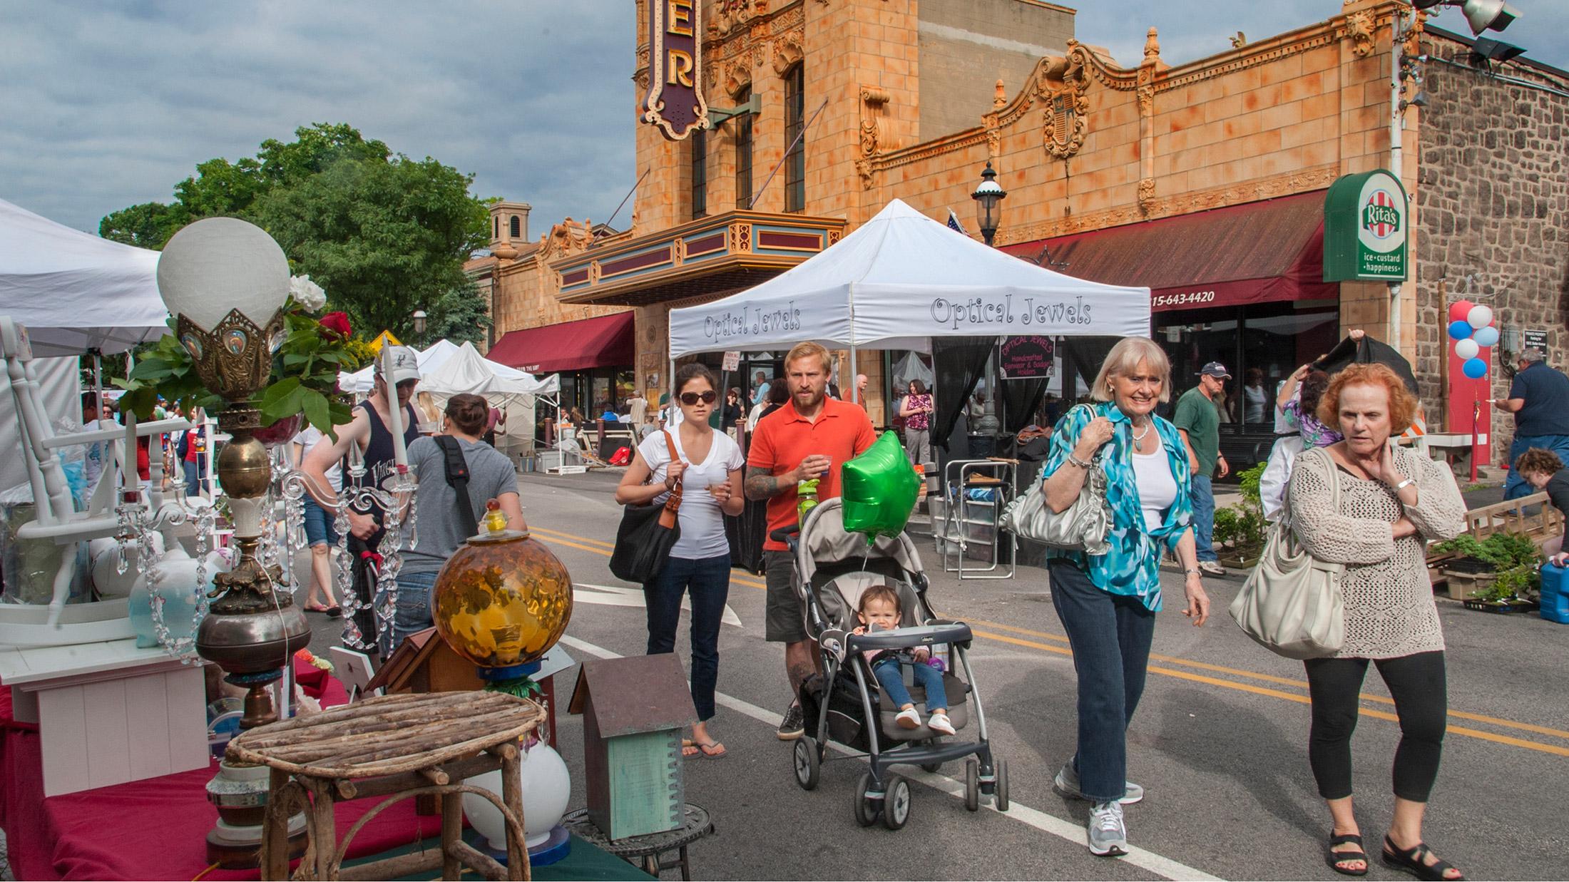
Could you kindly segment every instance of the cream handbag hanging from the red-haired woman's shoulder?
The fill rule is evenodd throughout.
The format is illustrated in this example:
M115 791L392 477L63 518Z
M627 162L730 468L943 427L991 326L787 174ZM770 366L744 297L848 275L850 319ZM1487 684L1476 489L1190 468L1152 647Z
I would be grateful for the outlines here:
M1329 504L1340 508L1340 477L1329 476ZM1258 565L1232 601L1230 614L1244 634L1288 659L1316 659L1340 651L1346 640L1340 578L1345 563L1315 559L1296 538L1290 505L1269 527Z

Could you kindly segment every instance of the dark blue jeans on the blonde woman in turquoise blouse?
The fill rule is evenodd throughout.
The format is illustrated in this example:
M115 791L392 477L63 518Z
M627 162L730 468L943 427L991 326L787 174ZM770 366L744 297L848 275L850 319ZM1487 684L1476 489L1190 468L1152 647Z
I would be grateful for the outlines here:
M1067 560L1051 562L1051 606L1068 632L1078 673L1079 789L1092 802L1122 799L1128 722L1144 695L1155 614L1139 598L1097 589Z

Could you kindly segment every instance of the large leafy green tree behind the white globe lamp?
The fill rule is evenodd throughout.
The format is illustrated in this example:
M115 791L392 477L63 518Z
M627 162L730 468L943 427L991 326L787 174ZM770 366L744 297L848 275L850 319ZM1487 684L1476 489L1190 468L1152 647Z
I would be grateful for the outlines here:
M394 154L348 124L319 122L297 129L293 141L262 141L256 157L199 163L176 184L173 202L121 209L99 234L163 248L195 220L245 218L271 234L292 272L326 289L328 308L348 312L359 333L410 336L413 312L425 309L460 315L472 334L482 328L461 297L472 292L463 261L483 245L488 223L472 182L430 157Z

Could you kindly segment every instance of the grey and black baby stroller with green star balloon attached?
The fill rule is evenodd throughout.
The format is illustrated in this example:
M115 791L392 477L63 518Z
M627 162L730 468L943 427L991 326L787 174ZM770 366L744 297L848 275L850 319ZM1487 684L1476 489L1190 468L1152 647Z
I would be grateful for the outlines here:
M965 808L979 810L985 794L999 811L1007 811L1007 763L992 755L987 739L981 694L970 670L970 626L932 612L926 573L910 537L879 537L868 546L865 535L844 530L843 504L830 499L806 512L803 524L775 530L774 538L789 545L795 556L795 593L822 662L822 673L800 689L806 731L794 747L795 783L808 791L817 788L821 766L830 761L827 742L835 741L857 752L844 760L868 760L855 788L855 821L869 827L880 816L885 827L897 830L910 818L910 782L890 767L905 764L935 772L943 763L965 758ZM879 582L899 592L901 626L850 634L858 625L861 592ZM899 708L863 653L907 647L929 647L935 658L948 648L943 683L948 717L959 734L945 739L924 722L918 728L894 723ZM924 711L924 720L930 714L924 689L910 686L910 697ZM976 739L963 741L971 725Z

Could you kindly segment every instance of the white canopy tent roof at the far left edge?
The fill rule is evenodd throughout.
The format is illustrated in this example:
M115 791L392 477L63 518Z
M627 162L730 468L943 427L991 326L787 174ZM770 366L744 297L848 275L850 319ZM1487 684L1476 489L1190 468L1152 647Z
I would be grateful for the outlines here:
M169 333L158 253L71 229L0 199L0 314L35 356L124 352Z

